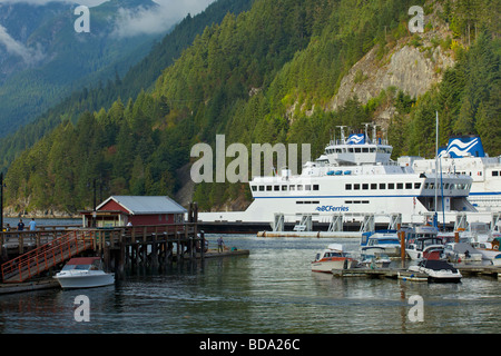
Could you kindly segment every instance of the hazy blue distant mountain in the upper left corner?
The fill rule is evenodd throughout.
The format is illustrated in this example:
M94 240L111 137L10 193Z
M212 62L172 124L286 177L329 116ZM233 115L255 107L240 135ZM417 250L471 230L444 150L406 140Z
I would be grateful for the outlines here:
M121 11L158 7L150 0L107 1L89 10L89 32L77 32L77 2L0 3L0 137L73 90L122 76L159 34L120 37ZM174 24L174 23L173 23ZM164 33L165 34L165 33Z

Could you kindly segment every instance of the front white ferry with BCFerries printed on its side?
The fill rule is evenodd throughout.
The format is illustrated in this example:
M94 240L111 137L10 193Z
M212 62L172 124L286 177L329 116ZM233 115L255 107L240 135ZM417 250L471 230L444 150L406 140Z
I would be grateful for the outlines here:
M333 215L362 220L374 215L374 221L387 224L389 216L401 215L401 224L423 222L435 211L475 211L468 200L472 177L458 172L416 172L390 157L392 146L364 134L333 139L314 161L303 166L299 175L284 168L281 174L254 177L249 188L254 201L245 211L199 212L199 220L242 224L273 222L276 214L296 221L310 215L312 221L328 224ZM440 194L438 195L438 188ZM299 216L299 217L298 217ZM415 218L418 217L418 219ZM442 217L442 215L439 215ZM446 222L454 222L454 217Z

